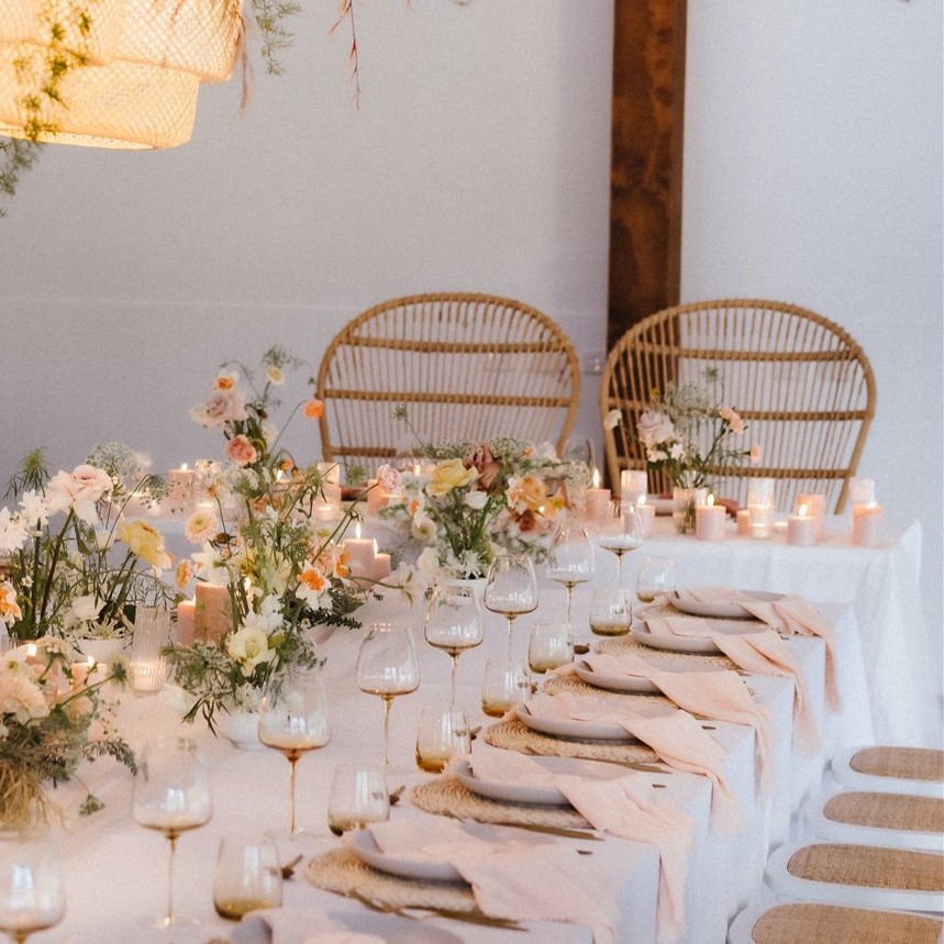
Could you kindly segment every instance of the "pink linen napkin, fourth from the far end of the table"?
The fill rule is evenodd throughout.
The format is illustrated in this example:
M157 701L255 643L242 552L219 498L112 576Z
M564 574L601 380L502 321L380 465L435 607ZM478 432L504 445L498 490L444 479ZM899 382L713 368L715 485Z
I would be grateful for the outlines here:
M724 776L724 748L687 711L647 718L612 699L569 691L555 696L537 695L527 702L527 708L533 715L549 719L622 725L652 747L669 767L708 777L712 786L711 818L714 825L722 834L741 829L740 803Z

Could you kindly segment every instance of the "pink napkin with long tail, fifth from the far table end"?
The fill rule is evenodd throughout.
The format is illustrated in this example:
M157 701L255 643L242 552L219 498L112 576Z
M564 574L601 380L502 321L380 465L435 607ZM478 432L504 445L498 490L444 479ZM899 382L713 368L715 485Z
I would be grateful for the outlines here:
M595 829L656 846L658 939L660 944L671 944L681 936L695 822L675 807L653 802L647 777L637 773L599 779L554 774L513 752L474 755L469 763L477 777L491 782L556 787Z

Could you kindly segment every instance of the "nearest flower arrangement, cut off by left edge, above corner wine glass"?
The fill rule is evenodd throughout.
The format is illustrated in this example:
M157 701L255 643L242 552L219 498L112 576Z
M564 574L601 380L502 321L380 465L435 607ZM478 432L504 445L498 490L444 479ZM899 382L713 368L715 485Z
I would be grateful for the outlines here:
M108 673L73 663L69 647L49 636L0 656L0 825L47 821L55 806L46 784L78 779L84 760L113 757L135 771L114 731L114 703L102 699L102 688L125 675L121 662ZM80 813L101 809L86 792Z

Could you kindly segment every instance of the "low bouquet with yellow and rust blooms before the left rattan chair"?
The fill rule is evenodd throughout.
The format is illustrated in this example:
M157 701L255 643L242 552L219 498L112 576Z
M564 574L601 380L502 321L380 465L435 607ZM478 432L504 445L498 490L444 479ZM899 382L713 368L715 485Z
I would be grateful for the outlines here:
M406 419L404 408L398 415ZM542 559L568 496L585 491L590 477L584 463L512 436L423 444L420 453L419 473L400 479L406 503L387 515L409 527L423 548L419 569L431 578L484 577L502 551Z

